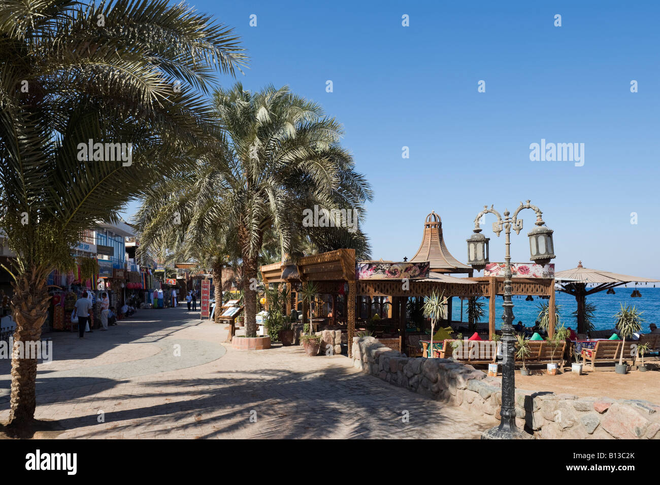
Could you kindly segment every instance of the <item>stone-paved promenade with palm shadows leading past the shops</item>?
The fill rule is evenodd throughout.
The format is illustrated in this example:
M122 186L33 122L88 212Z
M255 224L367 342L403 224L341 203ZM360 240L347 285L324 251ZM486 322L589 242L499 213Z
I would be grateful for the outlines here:
M197 315L194 318L193 315ZM477 438L492 423L298 346L238 351L199 312L143 309L108 331L49 333L37 410L59 438ZM0 421L11 366L0 361ZM402 416L407 414L409 422Z

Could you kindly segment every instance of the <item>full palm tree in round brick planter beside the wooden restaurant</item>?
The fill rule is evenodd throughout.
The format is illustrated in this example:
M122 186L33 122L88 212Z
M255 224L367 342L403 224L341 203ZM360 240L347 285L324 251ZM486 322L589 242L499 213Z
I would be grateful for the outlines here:
M257 331L255 287L264 244L275 237L280 255L294 253L301 241L321 240L321 229L328 229L305 227L304 209L319 205L362 216L372 193L339 145L341 125L314 102L287 87L267 86L253 93L240 83L217 90L214 100L226 131L214 132L215 141L207 143L172 187L154 189L172 197L171 205L159 209L166 214L164 224L155 226L184 232L183 226L174 228L168 222L173 214L168 208L177 207L182 218L187 214L189 220L203 220L196 227L217 227L235 238L243 269L246 336L252 337ZM181 187L174 189L176 184ZM343 228L333 229L343 234ZM359 230L348 234L342 236L348 242L342 243L362 243Z

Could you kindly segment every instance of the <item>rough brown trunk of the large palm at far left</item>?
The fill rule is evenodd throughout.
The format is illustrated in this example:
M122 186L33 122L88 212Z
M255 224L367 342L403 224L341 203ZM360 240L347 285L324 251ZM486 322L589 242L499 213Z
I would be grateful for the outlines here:
M14 296L11 309L16 321L14 346L11 359L11 397L9 423L11 427L22 427L34 419L36 408L36 358L21 358L17 350L25 348L26 342L38 342L41 329L48 316L50 296L46 287L50 273L45 267L32 267L16 275L12 283ZM22 343L21 343L22 342Z

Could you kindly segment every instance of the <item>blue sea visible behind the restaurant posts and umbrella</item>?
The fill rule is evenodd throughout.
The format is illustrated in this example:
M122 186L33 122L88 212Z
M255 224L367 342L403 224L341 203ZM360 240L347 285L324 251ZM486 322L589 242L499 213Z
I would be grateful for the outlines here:
M660 284L658 284L660 286ZM639 290L642 294L642 298L631 298L633 290ZM525 298L527 296L513 296L513 323L518 321L523 322L525 327L533 327L534 322L537 320L539 315L539 308L537 305L541 302L548 302L548 300L542 300L541 298L535 296L533 302L526 302ZM488 298L482 299L482 302L485 303L484 306L484 318L482 322L488 321ZM614 315L619 311L620 305L633 305L636 306L638 310L644 311L642 313L642 318L645 319L642 323L642 332L648 333L649 324L655 323L660 327L660 288L653 288L652 284L630 284L626 286L619 286L614 288L614 294L608 295L607 290L587 295L587 303L592 303L596 306L596 311L594 315L594 327L596 330L608 330L614 328L614 323L616 319ZM501 296L496 298L496 310L495 310L495 328L500 329L502 327L502 303L504 300ZM573 312L576 311L578 305L576 304L576 299L570 294L564 292L555 293L555 305L559 307L560 314L560 323L564 323L566 327L572 327L576 329L578 327L576 323L576 318L573 316ZM452 309L451 317L452 320L458 321L459 319L467 323L467 300L463 302L463 317L461 316L461 300L460 298L452 299Z

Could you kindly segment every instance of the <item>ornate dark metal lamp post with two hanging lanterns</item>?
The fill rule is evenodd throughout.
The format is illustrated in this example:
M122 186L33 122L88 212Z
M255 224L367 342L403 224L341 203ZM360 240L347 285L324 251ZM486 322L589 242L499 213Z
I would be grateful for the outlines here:
M504 241L504 312L502 313L502 342L504 346L504 365L502 368L502 408L500 409L500 426L491 428L482 435L482 439L515 439L523 437L523 434L515 426L515 358L513 356L515 349L515 337L513 336L513 303L512 303L512 275L511 275L511 228L515 230L515 234L520 234L523 228L523 220L518 219L518 213L523 209L533 209L536 212L537 220L536 227L527 234L529 236L529 249L531 252L530 259L539 265L546 265L550 259L554 258L552 244L552 230L545 226L543 222L541 210L529 203L520 203L513 216L510 216L508 210L504 210L504 218L500 212L490 209L484 205L484 210L479 212L475 218L474 234L467 240L467 264L471 265L475 270L480 271L486 267L488 261L488 241L489 239L480 234L481 228L479 227L479 219L490 212L495 214L498 218L497 222L493 222L493 232L500 237L500 233L504 230L506 239Z

